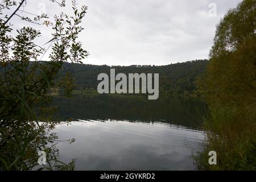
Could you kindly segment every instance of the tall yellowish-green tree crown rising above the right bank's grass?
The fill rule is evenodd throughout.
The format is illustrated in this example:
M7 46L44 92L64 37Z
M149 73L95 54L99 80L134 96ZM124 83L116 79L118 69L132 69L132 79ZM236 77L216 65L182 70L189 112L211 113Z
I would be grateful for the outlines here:
M201 89L225 104L256 102L256 1L242 1L217 25Z

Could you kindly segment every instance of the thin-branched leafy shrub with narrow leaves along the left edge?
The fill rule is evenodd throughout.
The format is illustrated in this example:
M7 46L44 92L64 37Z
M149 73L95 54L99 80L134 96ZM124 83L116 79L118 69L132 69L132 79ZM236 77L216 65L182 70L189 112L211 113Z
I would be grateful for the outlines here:
M79 10L73 0L73 15L60 13L51 22L46 14L24 11L27 3L3 0L0 5L0 170L33 169L38 164L39 150L47 153L48 165L43 167L73 169L74 163L62 165L57 160L57 148L49 145L57 139L52 133L56 123L50 117L53 108L49 106L49 93L62 87L65 94L70 94L72 77L59 77L59 70L66 61L78 63L88 55L77 41L87 7ZM65 1L57 4L64 7ZM28 16L22 16L22 11ZM30 26L13 30L15 16ZM40 30L33 28L34 24L51 28L52 38L42 38L47 48L36 43Z

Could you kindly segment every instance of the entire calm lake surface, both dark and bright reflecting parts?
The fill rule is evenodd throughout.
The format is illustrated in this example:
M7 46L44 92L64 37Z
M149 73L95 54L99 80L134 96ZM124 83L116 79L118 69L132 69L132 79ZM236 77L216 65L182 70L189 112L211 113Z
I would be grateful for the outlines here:
M193 170L191 154L200 150L199 98L94 95L55 98L60 125L60 160L76 159L76 170Z

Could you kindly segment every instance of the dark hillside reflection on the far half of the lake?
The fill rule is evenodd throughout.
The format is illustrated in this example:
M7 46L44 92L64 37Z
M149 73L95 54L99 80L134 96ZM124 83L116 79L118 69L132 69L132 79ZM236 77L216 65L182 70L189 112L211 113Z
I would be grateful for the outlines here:
M147 100L143 96L75 95L70 99L57 97L59 107L56 117L71 119L114 119L131 122L161 121L197 128L207 105L199 98L170 98Z

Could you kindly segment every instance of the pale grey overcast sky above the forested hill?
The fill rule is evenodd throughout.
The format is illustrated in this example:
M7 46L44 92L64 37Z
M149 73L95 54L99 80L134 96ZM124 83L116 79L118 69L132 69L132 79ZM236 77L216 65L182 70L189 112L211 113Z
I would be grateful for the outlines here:
M90 53L83 61L85 64L166 65L207 59L216 24L228 9L236 7L241 0L78 2L79 6L88 6L81 24L85 30L80 35L80 41ZM214 4L210 3L216 5L216 16ZM69 12L69 9L58 7L47 0L27 0L26 10L36 14L42 7L45 7L49 16L60 11ZM17 26L22 27L24 23L19 21ZM44 41L51 39L50 32L43 28Z

